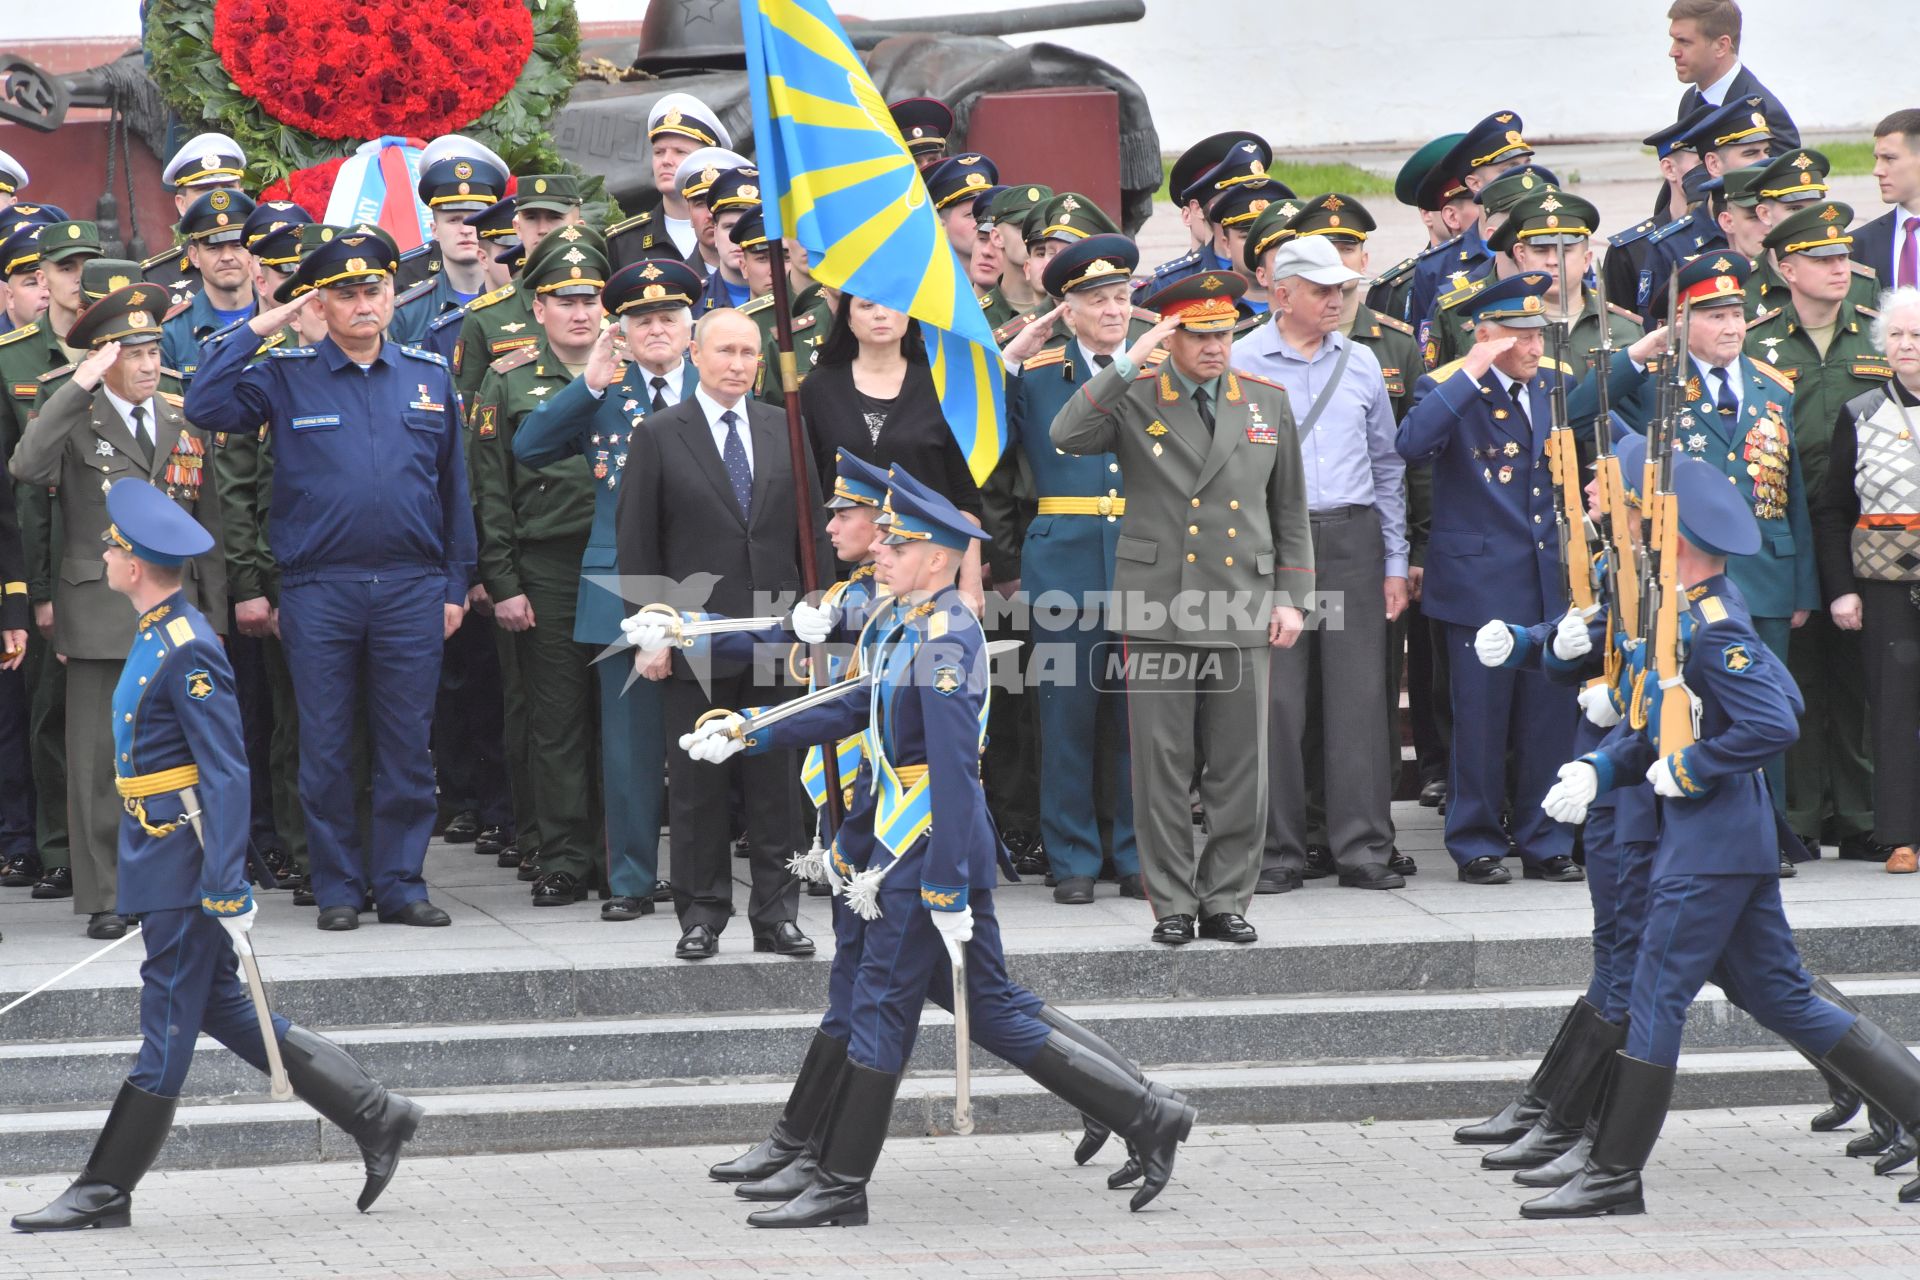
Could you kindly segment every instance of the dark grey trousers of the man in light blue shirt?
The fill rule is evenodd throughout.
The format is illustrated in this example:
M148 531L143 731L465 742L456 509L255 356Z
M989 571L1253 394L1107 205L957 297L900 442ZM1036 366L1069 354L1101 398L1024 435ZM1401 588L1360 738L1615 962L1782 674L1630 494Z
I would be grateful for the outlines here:
M1308 844L1308 756L1327 787L1327 844L1340 871L1386 864L1394 844L1386 723L1386 545L1371 507L1313 514L1319 606L1292 649L1273 651L1271 777L1261 871L1300 871ZM1309 697L1319 697L1317 716ZM1308 727L1317 729L1308 741Z

